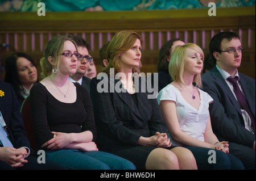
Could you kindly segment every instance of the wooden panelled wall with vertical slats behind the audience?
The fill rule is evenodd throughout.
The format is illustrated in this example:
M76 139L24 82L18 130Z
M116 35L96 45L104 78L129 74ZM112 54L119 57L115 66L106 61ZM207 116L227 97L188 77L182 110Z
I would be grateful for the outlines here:
M103 12L0 12L0 58L14 52L30 54L40 66L44 46L56 35L80 35L91 45L90 54L97 70L102 65L98 58L101 46L116 32L136 30L143 37L142 71L156 72L159 49L174 37L186 43L198 44L208 53L208 44L220 31L234 31L241 36L243 51L242 73L255 78L255 6L217 9L216 16L209 16L208 9L152 10L152 11L103 11ZM5 71L2 71L2 79Z

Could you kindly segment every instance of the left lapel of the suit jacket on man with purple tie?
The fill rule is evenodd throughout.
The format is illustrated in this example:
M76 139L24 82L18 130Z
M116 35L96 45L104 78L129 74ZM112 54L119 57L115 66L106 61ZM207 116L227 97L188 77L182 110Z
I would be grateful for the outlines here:
M225 79L222 77L220 72L217 70L216 66L212 69L212 75L213 78L217 79L220 87L223 87L224 91L226 92L226 95L229 96L230 101L232 102L233 106L236 108L236 110L241 114L241 108L239 103L237 102L237 99L234 97L233 92L230 90L228 84L226 83Z

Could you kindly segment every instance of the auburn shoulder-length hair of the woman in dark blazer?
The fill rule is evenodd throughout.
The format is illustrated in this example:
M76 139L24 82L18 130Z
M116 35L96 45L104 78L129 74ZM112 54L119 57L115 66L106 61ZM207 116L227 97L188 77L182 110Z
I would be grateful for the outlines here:
M114 68L114 74L117 74L121 69L121 66L119 65L119 54L133 47L137 39L139 39L142 44L141 35L139 35L137 31L131 30L121 31L113 36L106 49L106 58L109 61L109 64L103 71L110 74L110 68ZM133 73L135 72L137 72L137 70L136 68L133 68Z

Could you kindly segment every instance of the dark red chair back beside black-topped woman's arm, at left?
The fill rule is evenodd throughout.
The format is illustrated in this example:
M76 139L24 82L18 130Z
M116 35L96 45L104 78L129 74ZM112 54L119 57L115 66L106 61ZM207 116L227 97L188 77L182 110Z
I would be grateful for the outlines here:
M23 117L25 131L27 132L27 138L30 141L30 146L35 150L35 137L32 131L31 118L30 118L30 96L23 101L20 107L20 113Z

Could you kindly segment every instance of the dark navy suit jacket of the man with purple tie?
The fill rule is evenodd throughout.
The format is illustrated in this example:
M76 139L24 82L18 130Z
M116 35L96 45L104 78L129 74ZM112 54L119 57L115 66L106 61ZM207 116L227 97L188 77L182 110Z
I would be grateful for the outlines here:
M240 83L255 119L255 79L239 73ZM214 99L209 105L213 132L220 141L252 148L255 134L245 129L240 105L216 66L202 75L203 90Z

